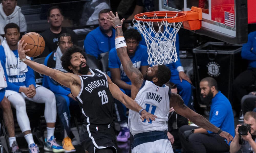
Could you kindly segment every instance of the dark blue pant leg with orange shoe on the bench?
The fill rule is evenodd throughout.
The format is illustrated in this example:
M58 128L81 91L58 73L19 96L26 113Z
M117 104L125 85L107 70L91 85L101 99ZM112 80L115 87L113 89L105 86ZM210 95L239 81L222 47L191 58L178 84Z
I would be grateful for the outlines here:
M59 119L64 127L64 139L62 141L62 147L66 152L74 152L76 149L72 145L70 139L70 113L69 113L69 105L70 99L66 95L55 94L56 104L57 104L57 113Z

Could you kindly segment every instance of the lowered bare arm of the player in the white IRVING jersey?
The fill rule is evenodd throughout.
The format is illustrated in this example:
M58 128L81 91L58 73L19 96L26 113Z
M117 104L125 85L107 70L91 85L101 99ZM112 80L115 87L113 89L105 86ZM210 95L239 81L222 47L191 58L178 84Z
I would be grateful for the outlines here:
M203 129L218 133L220 136L226 138L228 143L233 139L232 135L225 131L222 131L220 128L211 124L206 118L188 108L184 104L182 98L176 93L171 93L170 107L173 107L178 114L184 116L185 118L189 119Z

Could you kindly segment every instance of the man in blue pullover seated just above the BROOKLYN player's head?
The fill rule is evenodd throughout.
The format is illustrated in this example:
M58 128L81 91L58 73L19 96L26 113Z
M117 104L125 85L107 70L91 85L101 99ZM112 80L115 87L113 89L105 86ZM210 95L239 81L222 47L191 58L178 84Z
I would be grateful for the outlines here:
M84 40L84 49L87 54L99 58L101 53L109 52L115 47L115 30L109 21L104 18L110 9L99 12L99 27L88 33Z

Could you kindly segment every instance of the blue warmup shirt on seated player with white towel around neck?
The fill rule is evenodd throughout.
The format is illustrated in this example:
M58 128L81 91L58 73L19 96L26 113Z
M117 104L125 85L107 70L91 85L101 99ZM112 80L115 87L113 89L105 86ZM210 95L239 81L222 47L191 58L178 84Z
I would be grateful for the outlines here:
M18 60L18 50L13 50L13 53ZM25 85L26 87L28 87L31 84L34 84L34 86L36 86L34 71L29 66L27 67L28 71L26 73L20 73L20 75L16 76L7 76L5 69L6 56L4 53L4 47L2 45L0 46L0 60L2 66L4 67L4 73L7 82L6 90L13 90L19 92L20 86Z

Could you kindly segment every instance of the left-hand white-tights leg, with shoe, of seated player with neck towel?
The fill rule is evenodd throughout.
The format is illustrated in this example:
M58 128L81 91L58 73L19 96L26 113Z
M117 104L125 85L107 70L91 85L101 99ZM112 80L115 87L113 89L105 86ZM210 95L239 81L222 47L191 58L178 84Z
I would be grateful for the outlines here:
M17 122L19 124L20 130L24 133L24 137L28 143L28 148L30 151L39 149L34 142L33 135L31 133L30 122L26 112L25 98L22 94L15 91L6 90L5 95L8 97L11 105L16 109Z

